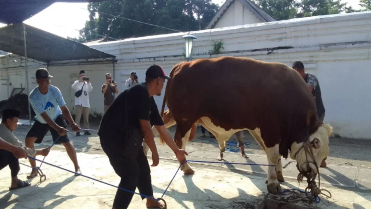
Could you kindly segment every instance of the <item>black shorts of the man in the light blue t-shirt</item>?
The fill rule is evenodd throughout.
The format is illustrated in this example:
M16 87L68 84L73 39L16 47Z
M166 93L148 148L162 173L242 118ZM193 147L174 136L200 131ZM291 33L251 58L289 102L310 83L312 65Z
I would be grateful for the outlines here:
M66 120L63 117L63 115L59 115L54 120L54 122L57 123L57 125L59 125L63 128L67 127L67 123L66 123ZM36 137L37 139L36 139L35 143L40 144L43 141L43 139L44 139L44 137L45 137L45 135L48 131L50 131L50 134L52 134L53 142L55 142L58 139L58 141L55 144L69 142L69 138L68 138L67 134L64 135L64 136L59 136L58 132L52 126L50 126L47 123L40 123L37 120L35 121L35 123L33 123L31 128L28 130L26 138L27 137Z

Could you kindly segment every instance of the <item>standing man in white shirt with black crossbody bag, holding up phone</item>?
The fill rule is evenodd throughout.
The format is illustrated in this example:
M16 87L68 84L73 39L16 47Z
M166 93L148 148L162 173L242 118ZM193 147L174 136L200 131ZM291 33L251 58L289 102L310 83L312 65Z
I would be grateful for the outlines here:
M72 89L75 90L75 122L80 126L81 115L84 119L84 128L89 129L89 92L93 90L89 77L85 77L85 71L79 73L79 80L72 84ZM84 135L92 135L89 131L85 131ZM80 136L80 132L76 132L76 136Z

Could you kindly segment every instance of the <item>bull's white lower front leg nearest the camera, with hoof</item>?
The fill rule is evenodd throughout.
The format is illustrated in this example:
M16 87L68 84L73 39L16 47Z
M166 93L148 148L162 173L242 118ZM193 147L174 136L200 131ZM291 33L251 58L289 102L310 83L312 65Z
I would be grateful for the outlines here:
M268 174L267 174L267 181L266 181L268 192L274 193L274 194L282 193L282 189L278 182L278 177L276 174L276 165L278 165L280 162L279 145L277 144L274 147L267 148L266 154L268 158L268 164L275 165L275 166L268 167ZM281 164L281 167L282 167L282 164ZM281 173L282 173L282 170L281 170Z

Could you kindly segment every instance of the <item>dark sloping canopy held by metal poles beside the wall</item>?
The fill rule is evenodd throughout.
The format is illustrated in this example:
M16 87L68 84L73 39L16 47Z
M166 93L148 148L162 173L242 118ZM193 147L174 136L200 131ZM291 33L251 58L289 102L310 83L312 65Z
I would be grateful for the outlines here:
M0 50L25 56L23 27L26 30L27 57L49 64L51 61L114 58L114 55L46 32L24 23L0 28Z

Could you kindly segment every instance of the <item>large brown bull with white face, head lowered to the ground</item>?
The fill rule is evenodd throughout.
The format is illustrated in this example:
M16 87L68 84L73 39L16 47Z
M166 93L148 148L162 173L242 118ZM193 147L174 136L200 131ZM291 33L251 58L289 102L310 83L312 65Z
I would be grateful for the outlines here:
M277 176L282 176L280 156L287 158L289 150L300 174L308 179L315 178L318 165L328 157L332 127L319 121L311 92L289 66L219 57L180 62L170 77L161 116L166 103L177 123L174 141L179 148L185 147L200 119L218 142L248 130L265 150L268 163L275 165L267 173L271 193L282 191ZM228 86L223 85L226 80ZM182 170L193 173L188 163Z

